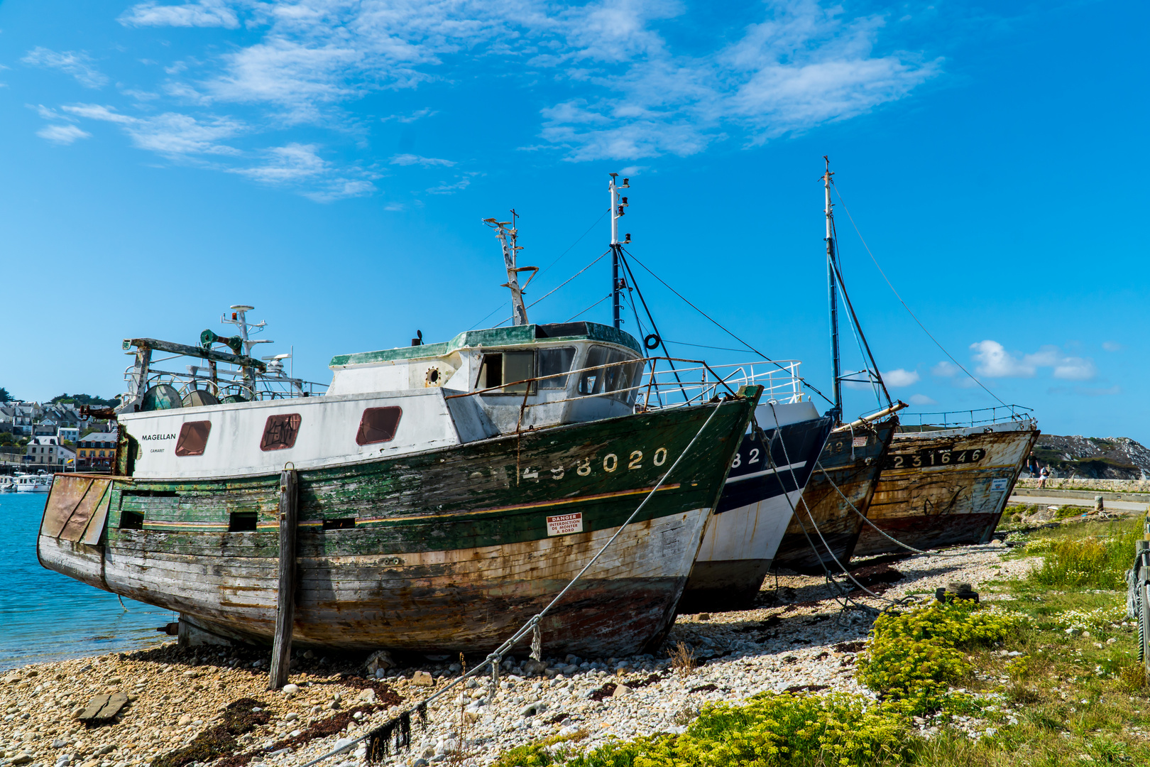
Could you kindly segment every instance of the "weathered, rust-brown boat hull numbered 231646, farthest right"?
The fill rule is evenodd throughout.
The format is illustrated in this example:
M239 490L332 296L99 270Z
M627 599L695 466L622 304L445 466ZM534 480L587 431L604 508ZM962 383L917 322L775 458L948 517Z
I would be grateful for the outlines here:
M986 542L1037 438L1033 421L897 434L867 519L920 550ZM853 555L904 551L864 526Z

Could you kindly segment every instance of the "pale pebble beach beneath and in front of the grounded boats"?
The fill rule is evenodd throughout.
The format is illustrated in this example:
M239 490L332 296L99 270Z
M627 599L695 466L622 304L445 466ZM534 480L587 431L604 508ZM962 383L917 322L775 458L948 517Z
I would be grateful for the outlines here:
M952 550L953 552L954 550ZM946 581L975 589L991 580L1025 576L1027 560L1003 561L1000 547L961 550L960 557L913 557L856 572L885 598L933 593ZM885 603L866 597L873 607ZM389 765L447 762L482 766L503 751L553 735L576 735L591 749L608 738L682 731L707 703L737 703L764 690L827 690L871 695L854 680L854 661L871 619L839 611L821 577L768 578L756 609L683 615L666 647L682 645L700 662L690 672L672 668L668 658L550 659L542 669L520 657L492 692L490 676L474 680L432 705L427 727L413 721L412 747L392 754ZM544 637L544 653L546 637ZM239 736L235 753L253 753L248 764L301 765L358 738L419 701L458 675L448 659L377 672L363 655L317 657L293 661L296 688L270 692L267 651L174 644L136 653L117 653L36 664L0 678L0 765L29 767L133 767L187 745L218 724L225 706L240 698L260 701L266 724ZM404 659L399 659L402 661ZM413 659L408 659L413 660ZM529 672L537 672L535 676ZM94 697L124 692L128 705L102 724L76 716ZM383 696L381 697L381 693ZM342 730L308 739L309 731ZM346 719L346 726L343 720ZM328 727L317 727L328 722ZM284 744L288 745L284 745ZM365 750L331 758L325 767L360 767ZM193 765L197 762L192 762Z

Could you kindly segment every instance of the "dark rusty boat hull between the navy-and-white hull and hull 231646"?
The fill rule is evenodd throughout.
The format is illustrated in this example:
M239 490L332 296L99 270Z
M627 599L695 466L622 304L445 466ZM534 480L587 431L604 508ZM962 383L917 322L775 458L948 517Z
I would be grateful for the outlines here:
M819 574L823 563L831 572L846 566L865 524L851 505L867 513L897 427L895 416L853 431L831 432L819 458L826 474L816 468L811 475L796 519L779 545L774 569Z

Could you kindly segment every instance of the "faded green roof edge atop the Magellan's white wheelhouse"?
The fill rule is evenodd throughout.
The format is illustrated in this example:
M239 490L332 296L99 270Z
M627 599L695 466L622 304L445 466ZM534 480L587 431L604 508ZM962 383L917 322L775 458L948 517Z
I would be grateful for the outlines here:
M608 344L627 346L637 354L643 354L643 347L635 337L611 325L596 322L562 322L545 325L513 325L511 328L488 328L486 330L468 330L448 342L424 344L422 346L400 346L384 348L378 352L356 352L354 354L337 354L331 358L328 367L340 368L348 365L370 365L373 362L392 362L396 360L419 360L451 354L457 348L469 346L520 346L537 344L540 340L601 340Z

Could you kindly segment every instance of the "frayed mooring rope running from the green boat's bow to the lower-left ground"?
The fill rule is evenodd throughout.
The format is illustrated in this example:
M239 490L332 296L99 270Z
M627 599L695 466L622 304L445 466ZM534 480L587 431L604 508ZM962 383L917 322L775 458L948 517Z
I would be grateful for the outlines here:
M362 743L365 741L370 741L367 759L369 764L374 764L381 757L388 756L388 751L390 750L389 746L391 745L390 741L392 736L396 737L397 749L411 745L411 718L413 713L419 714L421 721L425 723L428 705L437 700L438 698L442 698L450 690L454 689L463 681L474 676L478 676L480 673L488 666L492 666L493 669L492 677L494 678L494 675L498 674L499 664L503 661L503 657L507 652L509 652L511 649L514 647L520 639L527 636L528 632L536 631L537 627L539 626L539 621L543 620L543 616L546 615L547 612L551 611L551 608L554 607L555 604L558 604L559 600L564 598L564 596L572 589L572 586L575 585L576 581L583 577L583 575L591 568L591 566L599 560L603 553L607 551L607 547L615 542L615 539L620 536L620 534L622 534L623 528L626 528L635 520L638 513L643 511L643 507L646 506L647 501L651 500L652 497L654 497L654 493L659 490L659 488L661 488L664 483L666 483L667 480L670 477L670 475L675 471L675 469L678 467L678 463L683 460L683 457L687 455L689 452L691 452L691 447L695 446L695 443L698 440L699 435L706 431L706 428L711 425L711 421L719 413L719 408L721 408L723 405L726 405L726 401L719 402L715 406L714 411L711 412L711 415L708 415L707 420L703 423L703 427L695 434L693 437L691 437L691 442L687 444L687 447L683 448L683 452L678 454L678 458L675 459L675 462L670 465L670 468L667 469L667 473L664 474L662 478L659 480L659 483L651 489L651 492L649 492L646 497L643 498L643 501L635 508L634 512L631 512L631 515L627 517L627 521L624 521L621 526L619 526L619 529L615 530L615 534L613 536L611 536L611 539L607 540L607 543L603 544L603 547L599 549L596 555L591 558L591 560L583 567L582 570L578 572L578 574L574 578L572 578L570 583L564 586L562 591L555 595L554 599L552 599L546 607L544 607L529 621L527 621L527 623L524 623L518 631L515 631L515 634L512 635L511 638L508 638L506 642L499 645L498 650L489 654L486 659L475 668L463 673L461 676L457 676L451 682L448 682L447 685L444 687L443 689L434 692L432 695L428 696L427 698L415 704L414 706L408 706L406 710L401 711L399 714L393 716L388 722L373 729L367 735L362 735L355 738L354 741L345 743L340 747L335 749L334 751L330 751L323 754L322 757L317 757L312 761L302 765L302 767L313 767L313 765L317 765L321 761L324 761L325 759L335 757L336 754L344 753L348 751L352 746Z

